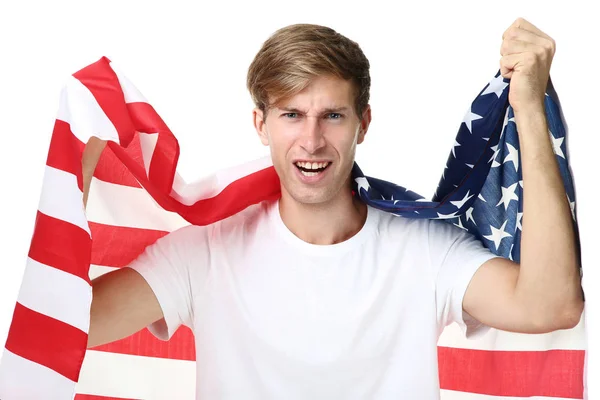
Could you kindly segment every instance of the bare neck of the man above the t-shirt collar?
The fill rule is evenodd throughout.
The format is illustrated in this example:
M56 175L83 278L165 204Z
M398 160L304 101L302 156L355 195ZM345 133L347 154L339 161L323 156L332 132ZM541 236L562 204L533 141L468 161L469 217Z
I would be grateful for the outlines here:
M303 204L282 191L281 219L287 228L307 243L330 245L356 235L367 218L367 206L352 193L340 193L328 203Z

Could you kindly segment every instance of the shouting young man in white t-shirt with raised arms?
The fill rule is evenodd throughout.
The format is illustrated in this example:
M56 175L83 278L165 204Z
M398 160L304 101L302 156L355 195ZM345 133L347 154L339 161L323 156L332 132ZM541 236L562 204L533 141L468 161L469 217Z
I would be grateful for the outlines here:
M175 231L96 279L89 346L146 326L166 340L184 324L198 399L437 399L446 325L466 335L576 325L571 213L543 108L554 42L522 19L503 39L527 187L521 265L443 221L393 217L352 195L369 62L329 28L293 25L248 72L280 200Z

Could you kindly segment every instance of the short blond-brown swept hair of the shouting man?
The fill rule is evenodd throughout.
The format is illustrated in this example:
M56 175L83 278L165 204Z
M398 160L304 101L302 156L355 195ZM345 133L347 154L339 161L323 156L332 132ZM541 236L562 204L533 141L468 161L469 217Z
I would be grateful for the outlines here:
M320 75L352 82L354 109L362 119L369 103L369 60L358 43L326 26L295 24L277 30L250 64L246 86L266 118L270 106L302 91Z

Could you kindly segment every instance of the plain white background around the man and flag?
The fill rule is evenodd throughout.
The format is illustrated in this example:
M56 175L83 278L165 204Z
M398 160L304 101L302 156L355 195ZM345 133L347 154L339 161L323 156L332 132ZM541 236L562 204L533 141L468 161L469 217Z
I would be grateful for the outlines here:
M276 29L328 25L371 62L373 122L357 161L371 176L430 198L462 117L494 76L504 30L519 16L557 42L551 76L569 125L588 296L600 337L594 239L600 29L575 1L5 2L0 6L0 346L10 325L38 206L60 89L107 56L146 96L181 144L193 181L268 154L251 124L247 68ZM596 293L594 293L594 291ZM590 313L591 311L591 313ZM589 373L600 377L598 341ZM593 385L596 386L593 386ZM600 398L589 376L590 398Z

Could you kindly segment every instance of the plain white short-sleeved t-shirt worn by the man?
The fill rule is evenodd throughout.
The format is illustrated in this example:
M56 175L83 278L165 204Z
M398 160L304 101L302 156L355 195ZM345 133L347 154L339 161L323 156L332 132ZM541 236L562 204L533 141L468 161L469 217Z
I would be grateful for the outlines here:
M313 245L263 202L159 239L130 267L152 287L167 340L196 345L197 399L439 399L437 341L495 257L443 221L368 207L363 228Z

